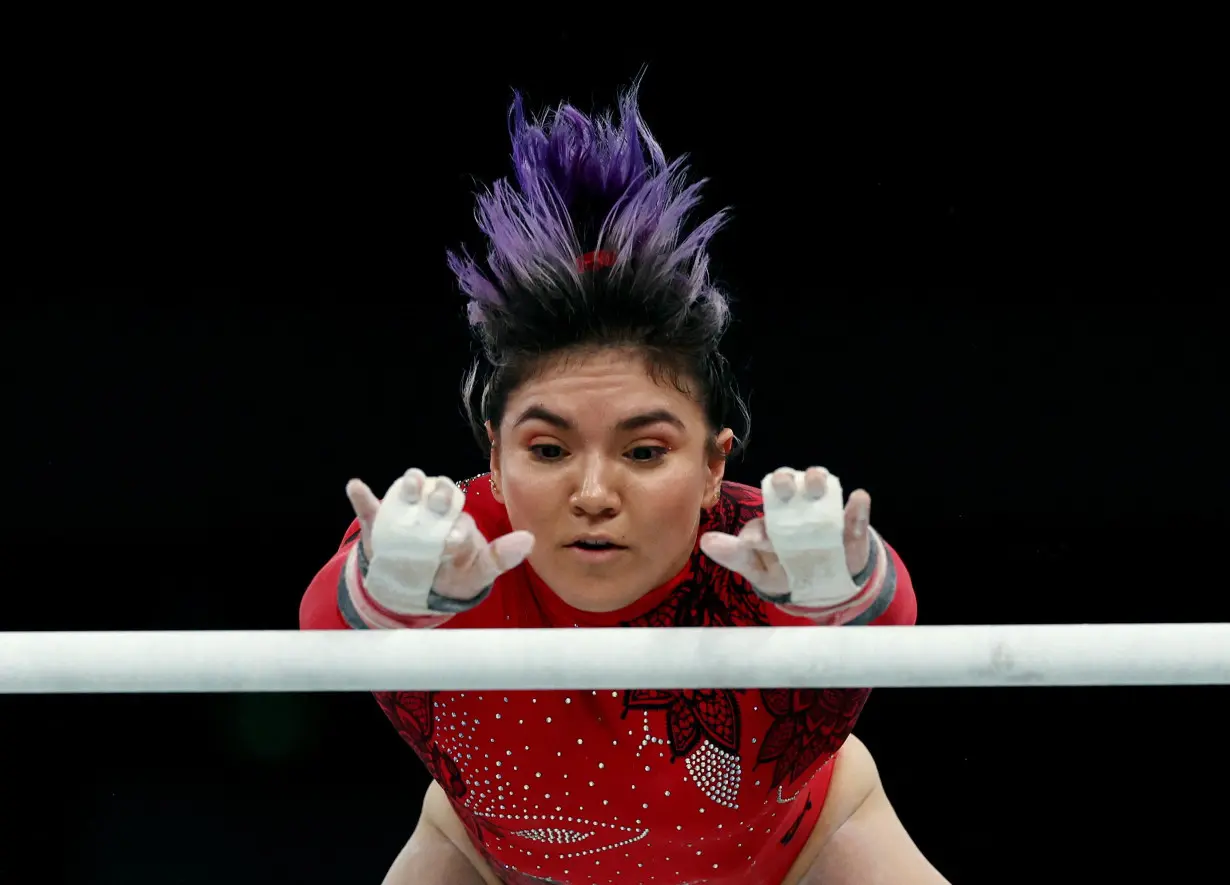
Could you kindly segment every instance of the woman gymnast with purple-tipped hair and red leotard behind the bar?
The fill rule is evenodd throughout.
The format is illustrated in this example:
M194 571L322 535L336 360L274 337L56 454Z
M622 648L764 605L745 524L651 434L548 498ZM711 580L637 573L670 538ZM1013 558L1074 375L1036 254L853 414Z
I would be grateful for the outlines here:
M911 624L914 591L822 468L724 481L747 412L718 343L715 215L636 92L512 109L517 182L450 256L490 473L408 471L304 597L305 629ZM384 692L432 784L386 883L942 883L850 734L865 690Z

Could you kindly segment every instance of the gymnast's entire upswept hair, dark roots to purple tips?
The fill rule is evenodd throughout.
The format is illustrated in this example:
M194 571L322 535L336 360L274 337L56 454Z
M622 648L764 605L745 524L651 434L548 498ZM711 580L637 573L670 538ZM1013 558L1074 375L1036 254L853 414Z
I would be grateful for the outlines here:
M638 88L640 79L620 96L617 122L567 103L531 120L514 92L515 181L477 194L486 258L448 253L487 363L464 384L485 450L483 422L498 427L508 393L542 358L588 347L636 347L676 385L699 382L715 429L732 411L747 418L717 350L728 300L708 277L706 247L727 213L688 230L705 181L688 182L686 157L667 161Z

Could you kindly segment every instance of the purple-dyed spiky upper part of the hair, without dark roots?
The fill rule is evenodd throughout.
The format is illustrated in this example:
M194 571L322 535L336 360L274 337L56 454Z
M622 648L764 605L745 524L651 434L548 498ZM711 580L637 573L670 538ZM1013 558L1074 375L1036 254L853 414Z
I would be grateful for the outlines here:
M577 259L590 251L614 254L614 280L642 290L669 286L685 306L707 299L724 318L726 297L708 285L706 246L726 213L685 235L705 182L686 182L685 157L667 162L637 107L638 86L620 97L619 123L567 103L531 122L514 93L515 186L502 179L477 198L486 267L469 254L448 256L470 297L472 324L510 309L515 291L583 289Z

